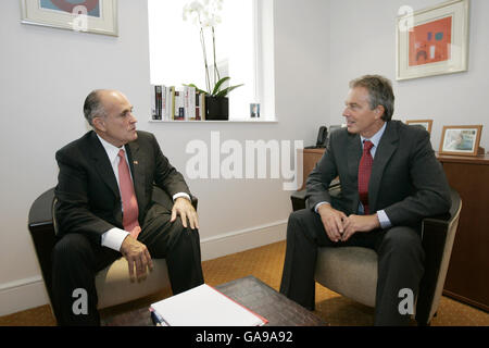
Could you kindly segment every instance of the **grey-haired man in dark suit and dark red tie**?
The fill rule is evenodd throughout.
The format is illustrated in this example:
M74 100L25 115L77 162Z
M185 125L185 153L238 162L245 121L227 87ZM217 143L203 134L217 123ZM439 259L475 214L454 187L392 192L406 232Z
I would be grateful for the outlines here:
M417 294L423 276L421 224L450 209L450 190L429 134L391 121L390 82L366 75L350 83L343 116L306 181L306 209L290 214L280 291L314 309L317 247L362 246L378 256L376 325L405 325L399 291ZM341 195L331 197L339 176Z

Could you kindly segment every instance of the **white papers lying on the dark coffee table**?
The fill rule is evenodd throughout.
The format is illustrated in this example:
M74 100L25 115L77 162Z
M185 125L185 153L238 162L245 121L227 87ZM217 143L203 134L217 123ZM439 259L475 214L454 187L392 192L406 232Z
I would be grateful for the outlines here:
M261 326L268 322L206 284L152 303L150 311L162 326Z

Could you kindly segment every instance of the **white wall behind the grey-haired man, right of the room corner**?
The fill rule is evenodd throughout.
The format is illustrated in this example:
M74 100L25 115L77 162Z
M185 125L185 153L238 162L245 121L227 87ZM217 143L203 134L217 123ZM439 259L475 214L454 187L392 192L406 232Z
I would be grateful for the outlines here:
M396 80L396 17L401 5L414 11L440 0L330 1L330 122L338 124L350 79L381 74L392 80L393 119L432 119L431 145L438 151L443 125L481 124L480 146L489 150L489 1L471 1L468 71L410 80ZM334 88L333 88L334 86Z

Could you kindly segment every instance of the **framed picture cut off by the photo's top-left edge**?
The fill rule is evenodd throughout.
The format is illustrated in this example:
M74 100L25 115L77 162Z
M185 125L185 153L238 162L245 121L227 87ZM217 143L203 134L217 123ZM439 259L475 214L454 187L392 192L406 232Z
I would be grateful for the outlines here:
M117 0L20 0L23 24L118 36Z

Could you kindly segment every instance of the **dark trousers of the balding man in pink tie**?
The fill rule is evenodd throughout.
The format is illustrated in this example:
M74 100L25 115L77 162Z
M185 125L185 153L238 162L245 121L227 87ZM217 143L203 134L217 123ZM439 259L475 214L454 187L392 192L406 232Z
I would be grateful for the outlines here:
M154 204L146 216L138 240L147 246L152 258L166 259L175 295L203 284L203 274L199 232L184 228L179 217L173 223L170 219L168 210ZM121 257L121 252L95 244L83 234L66 234L61 238L52 254L52 304L59 325L100 325L95 276ZM87 314L76 314L73 310L76 301L73 294L79 288L87 291Z

